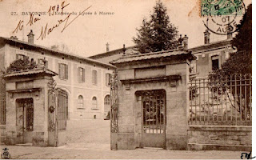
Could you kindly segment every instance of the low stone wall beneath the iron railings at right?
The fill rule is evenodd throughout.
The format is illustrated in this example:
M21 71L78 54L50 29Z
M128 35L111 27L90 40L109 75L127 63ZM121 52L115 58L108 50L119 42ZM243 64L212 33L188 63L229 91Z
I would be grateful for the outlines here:
M189 150L252 149L251 126L190 126Z

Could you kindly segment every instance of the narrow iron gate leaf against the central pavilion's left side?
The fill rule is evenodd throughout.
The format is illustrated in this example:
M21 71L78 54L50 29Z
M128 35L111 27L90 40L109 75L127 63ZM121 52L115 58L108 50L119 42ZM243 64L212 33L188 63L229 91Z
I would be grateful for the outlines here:
M118 150L118 72L110 76L110 148Z

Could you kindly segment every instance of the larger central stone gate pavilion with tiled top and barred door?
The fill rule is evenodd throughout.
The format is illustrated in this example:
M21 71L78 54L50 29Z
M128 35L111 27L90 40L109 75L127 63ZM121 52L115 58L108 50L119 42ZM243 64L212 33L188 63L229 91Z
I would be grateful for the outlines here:
M125 56L118 70L118 133L111 148L187 148L190 61L186 50Z

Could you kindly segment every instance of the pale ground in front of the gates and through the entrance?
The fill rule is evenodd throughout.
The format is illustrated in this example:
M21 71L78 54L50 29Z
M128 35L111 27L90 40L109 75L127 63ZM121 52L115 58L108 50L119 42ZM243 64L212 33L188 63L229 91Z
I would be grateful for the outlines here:
M5 146L1 146L4 148ZM239 159L240 151L110 150L110 121L84 120L68 123L65 146L6 146L11 158L101 159ZM2 151L2 150L1 150Z

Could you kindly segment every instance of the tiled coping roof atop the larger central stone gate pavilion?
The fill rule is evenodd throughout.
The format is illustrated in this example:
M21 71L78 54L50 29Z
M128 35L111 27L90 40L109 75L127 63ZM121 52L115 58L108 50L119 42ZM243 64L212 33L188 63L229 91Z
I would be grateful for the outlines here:
M149 60L149 59L155 59L155 58L168 58L168 57L178 56L178 55L186 55L194 59L194 56L191 54L191 52L187 50L175 49L175 50L164 50L159 52L153 52L149 54L135 54L135 55L123 56L122 58L118 58L117 60L114 60L110 63L117 64L117 63L123 63L123 62L135 62L135 61Z

